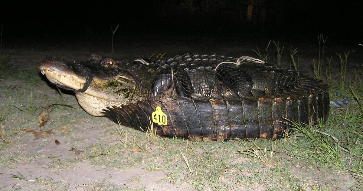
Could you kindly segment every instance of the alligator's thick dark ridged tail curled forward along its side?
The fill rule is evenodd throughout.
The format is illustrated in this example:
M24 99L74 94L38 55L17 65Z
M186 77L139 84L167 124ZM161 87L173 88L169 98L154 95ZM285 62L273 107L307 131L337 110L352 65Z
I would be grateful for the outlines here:
M218 99L194 94L192 98L174 96L113 106L104 110L104 114L115 123L144 130L150 127L156 107L160 107L167 117L167 124L152 122L160 136L198 141L277 139L289 132L291 121L304 125L317 118L326 119L329 93L246 98L228 92Z

